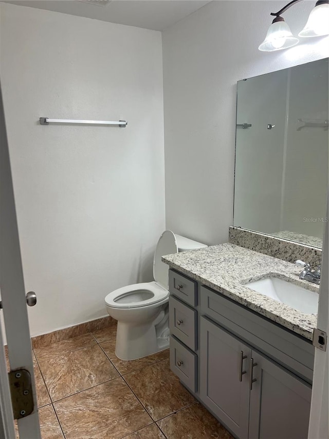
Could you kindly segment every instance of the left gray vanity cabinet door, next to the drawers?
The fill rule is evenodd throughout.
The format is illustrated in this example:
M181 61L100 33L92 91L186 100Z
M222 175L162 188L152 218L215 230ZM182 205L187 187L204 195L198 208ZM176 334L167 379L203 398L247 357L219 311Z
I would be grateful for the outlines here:
M242 341L200 318L200 398L240 439L248 437L250 356Z

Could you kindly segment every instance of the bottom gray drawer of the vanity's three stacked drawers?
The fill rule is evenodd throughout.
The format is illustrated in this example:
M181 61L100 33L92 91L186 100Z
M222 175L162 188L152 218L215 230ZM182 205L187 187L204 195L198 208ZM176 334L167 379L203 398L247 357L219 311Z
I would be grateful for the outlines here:
M170 336L170 368L181 382L196 392L196 354Z

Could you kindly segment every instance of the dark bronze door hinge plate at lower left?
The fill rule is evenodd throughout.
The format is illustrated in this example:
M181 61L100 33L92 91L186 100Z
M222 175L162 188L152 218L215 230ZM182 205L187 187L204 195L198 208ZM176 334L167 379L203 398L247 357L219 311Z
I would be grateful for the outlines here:
M33 392L31 375L25 369L17 369L8 373L14 419L24 418L33 412Z

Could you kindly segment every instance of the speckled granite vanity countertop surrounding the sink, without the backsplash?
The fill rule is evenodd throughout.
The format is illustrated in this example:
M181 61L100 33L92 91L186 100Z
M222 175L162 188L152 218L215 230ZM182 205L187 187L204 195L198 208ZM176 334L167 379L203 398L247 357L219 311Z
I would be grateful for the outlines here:
M300 267L231 243L166 255L162 260L171 268L312 340L317 314L293 309L246 285L270 275L319 292L318 285L299 279Z

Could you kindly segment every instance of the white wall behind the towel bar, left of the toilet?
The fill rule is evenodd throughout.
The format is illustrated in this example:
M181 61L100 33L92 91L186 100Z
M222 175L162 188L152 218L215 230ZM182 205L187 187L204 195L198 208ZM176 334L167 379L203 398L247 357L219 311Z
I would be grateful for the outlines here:
M31 335L152 280L165 229L160 32L0 4L1 81ZM126 119L127 128L39 125Z

